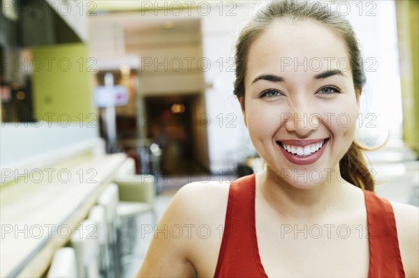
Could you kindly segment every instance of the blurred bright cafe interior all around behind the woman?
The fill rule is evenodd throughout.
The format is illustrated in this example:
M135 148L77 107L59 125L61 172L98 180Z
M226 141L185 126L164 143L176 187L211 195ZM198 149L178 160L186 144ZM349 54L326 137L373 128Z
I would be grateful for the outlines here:
M362 47L376 194L418 206L419 2L330 3ZM260 171L233 95L255 4L1 0L0 277L132 277L180 187Z

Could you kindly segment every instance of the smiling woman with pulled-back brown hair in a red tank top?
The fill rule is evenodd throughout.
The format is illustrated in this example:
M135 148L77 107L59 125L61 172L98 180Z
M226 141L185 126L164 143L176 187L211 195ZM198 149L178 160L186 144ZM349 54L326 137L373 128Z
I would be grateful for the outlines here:
M418 209L372 193L353 141L364 84L343 17L260 8L237 41L235 95L266 169L182 187L138 277L418 277Z

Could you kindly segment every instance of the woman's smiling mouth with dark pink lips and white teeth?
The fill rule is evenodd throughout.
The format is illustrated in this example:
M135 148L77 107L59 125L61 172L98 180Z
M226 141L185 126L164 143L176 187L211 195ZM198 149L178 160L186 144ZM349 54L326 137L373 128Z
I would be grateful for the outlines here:
M277 141L284 156L295 164L311 164L323 155L329 139L284 140Z

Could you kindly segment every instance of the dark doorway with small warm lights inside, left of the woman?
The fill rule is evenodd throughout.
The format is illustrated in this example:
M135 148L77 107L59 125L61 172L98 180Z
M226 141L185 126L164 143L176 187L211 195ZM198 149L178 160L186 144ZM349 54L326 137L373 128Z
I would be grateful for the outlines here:
M162 149L163 175L196 175L208 173L202 152L207 152L206 127L197 124L196 111L202 98L190 95L159 95L145 97L147 137Z

